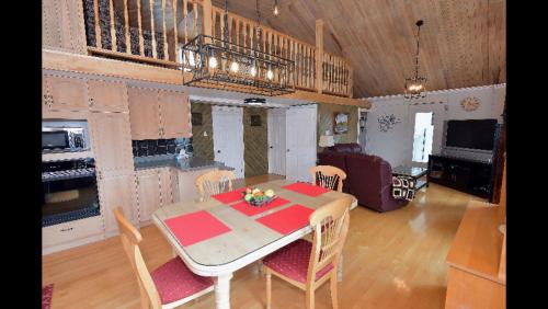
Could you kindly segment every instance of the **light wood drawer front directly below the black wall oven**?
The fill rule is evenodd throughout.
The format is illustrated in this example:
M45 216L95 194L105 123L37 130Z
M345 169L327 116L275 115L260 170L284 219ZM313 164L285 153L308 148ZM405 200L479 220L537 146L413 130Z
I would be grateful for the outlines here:
M42 248L100 234L103 232L101 216L42 228Z

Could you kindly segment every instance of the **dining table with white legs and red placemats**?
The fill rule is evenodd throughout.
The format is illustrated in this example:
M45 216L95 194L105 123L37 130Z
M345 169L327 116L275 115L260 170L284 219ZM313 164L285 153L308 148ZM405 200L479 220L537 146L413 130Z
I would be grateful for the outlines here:
M344 196L352 197L351 209L357 206L357 199L346 193L307 193L292 190L293 185L312 186L289 180L267 181L253 187L273 190L275 207L251 207L243 199L244 187L240 187L224 196L162 206L152 214L152 220L193 273L215 277L216 307L226 309L230 308L233 272L310 233L308 217L315 209ZM339 281L342 259L340 262Z

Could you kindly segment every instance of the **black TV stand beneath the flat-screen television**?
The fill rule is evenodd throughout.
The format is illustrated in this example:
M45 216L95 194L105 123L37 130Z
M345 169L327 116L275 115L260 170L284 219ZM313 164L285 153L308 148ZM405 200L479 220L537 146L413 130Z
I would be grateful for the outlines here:
M493 164L473 159L431 154L427 178L429 182L490 199Z

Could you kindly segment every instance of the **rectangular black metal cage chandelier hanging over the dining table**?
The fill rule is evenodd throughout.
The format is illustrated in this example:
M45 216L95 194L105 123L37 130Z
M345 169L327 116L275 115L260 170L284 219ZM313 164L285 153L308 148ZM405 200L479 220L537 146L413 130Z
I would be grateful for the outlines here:
M225 0L222 38L198 34L182 47L183 83L269 96L294 92L295 61L267 53L261 46L259 0L256 13L256 38L251 41L256 42L256 47L233 43L228 35L228 0ZM189 81L184 80L185 71L192 73Z

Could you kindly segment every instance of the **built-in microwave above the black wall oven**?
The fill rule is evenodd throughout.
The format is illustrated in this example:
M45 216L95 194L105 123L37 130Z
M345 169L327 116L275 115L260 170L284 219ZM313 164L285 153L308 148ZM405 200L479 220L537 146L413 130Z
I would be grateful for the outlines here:
M78 152L89 149L87 121L42 122L42 153Z

